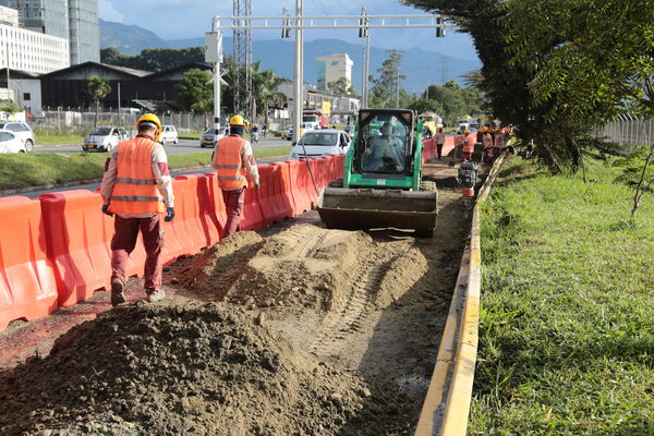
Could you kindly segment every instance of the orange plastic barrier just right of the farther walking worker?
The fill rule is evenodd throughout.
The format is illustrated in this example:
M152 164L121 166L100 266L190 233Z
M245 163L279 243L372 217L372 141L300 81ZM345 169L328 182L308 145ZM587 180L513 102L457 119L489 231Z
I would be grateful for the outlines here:
M290 193L289 166L267 164L258 167L262 187L259 205L266 225L293 216L293 197Z

